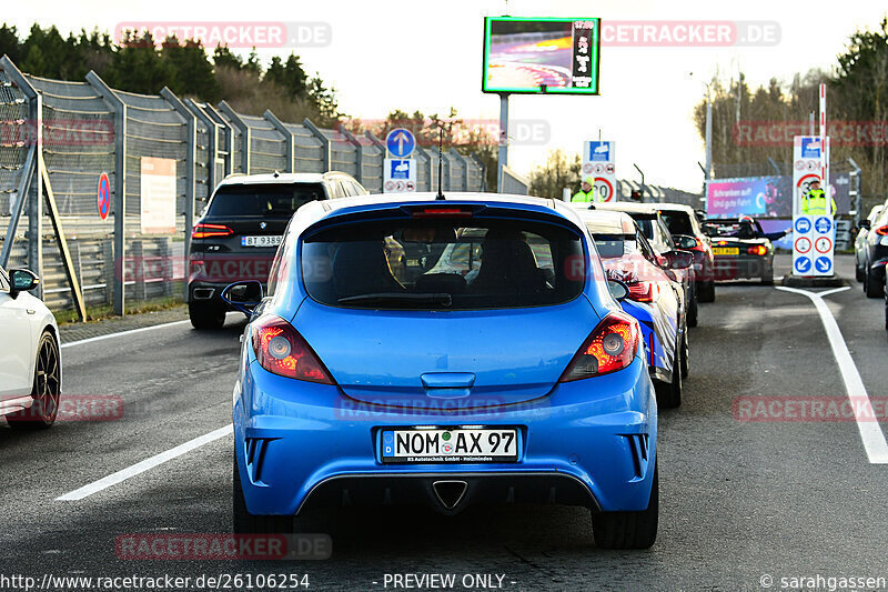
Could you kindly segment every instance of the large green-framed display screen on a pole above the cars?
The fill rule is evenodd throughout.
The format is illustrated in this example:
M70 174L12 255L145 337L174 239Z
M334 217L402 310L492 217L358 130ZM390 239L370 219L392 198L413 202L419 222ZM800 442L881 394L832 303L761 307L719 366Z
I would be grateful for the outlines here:
M598 94L601 19L484 19L483 92Z

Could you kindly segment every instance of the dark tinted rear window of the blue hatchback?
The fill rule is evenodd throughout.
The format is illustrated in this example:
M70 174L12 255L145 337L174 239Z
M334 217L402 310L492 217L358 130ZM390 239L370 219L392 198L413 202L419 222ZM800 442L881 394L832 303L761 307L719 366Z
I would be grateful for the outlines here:
M345 308L480 310L561 304L585 285L578 234L543 222L353 223L303 239L314 300Z

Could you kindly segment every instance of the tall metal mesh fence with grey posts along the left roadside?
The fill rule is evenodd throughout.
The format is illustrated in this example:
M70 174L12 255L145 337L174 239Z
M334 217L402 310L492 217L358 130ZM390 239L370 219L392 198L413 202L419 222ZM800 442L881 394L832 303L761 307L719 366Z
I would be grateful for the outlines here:
M226 174L324 172L382 191L384 144L372 133L281 121L218 106L22 73L0 59L0 264L29 267L56 310L110 304L118 313L184 295L184 260L195 215ZM144 159L174 163L175 224L142 232ZM418 191L437 189L437 150L417 148ZM482 191L474 155L442 154L445 191ZM100 174L110 208L99 215ZM526 192L526 191L525 191ZM119 215L120 213L120 215Z

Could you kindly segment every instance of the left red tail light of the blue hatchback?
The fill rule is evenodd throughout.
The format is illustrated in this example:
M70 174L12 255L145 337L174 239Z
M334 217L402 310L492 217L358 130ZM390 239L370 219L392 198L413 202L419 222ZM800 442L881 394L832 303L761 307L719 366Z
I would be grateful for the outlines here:
M252 331L256 360L272 374L333 384L317 354L289 322L269 314L256 319Z

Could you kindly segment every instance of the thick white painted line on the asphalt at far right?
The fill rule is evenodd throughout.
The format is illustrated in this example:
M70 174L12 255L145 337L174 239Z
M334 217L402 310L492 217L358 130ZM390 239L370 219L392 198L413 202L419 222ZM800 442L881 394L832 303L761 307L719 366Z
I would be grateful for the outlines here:
M845 391L848 393L848 399L851 400L857 429L860 431L860 439L864 441L869 462L871 464L888 464L888 442L885 441L885 433L882 433L879 422L874 419L875 413L872 413L872 404L869 401L867 389L864 385L860 373L857 371L857 365L854 363L851 352L848 351L848 345L845 343L845 338L841 335L836 318L833 317L833 312L824 300L824 295L847 289L848 287L845 287L818 293L797 288L777 287L777 290L783 290L784 292L806 295L814 302L814 307L820 314L820 321L824 323L829 345L833 348L833 355L835 355L836 363L839 365L841 380L845 382ZM865 404L855 404L857 401L862 401Z

